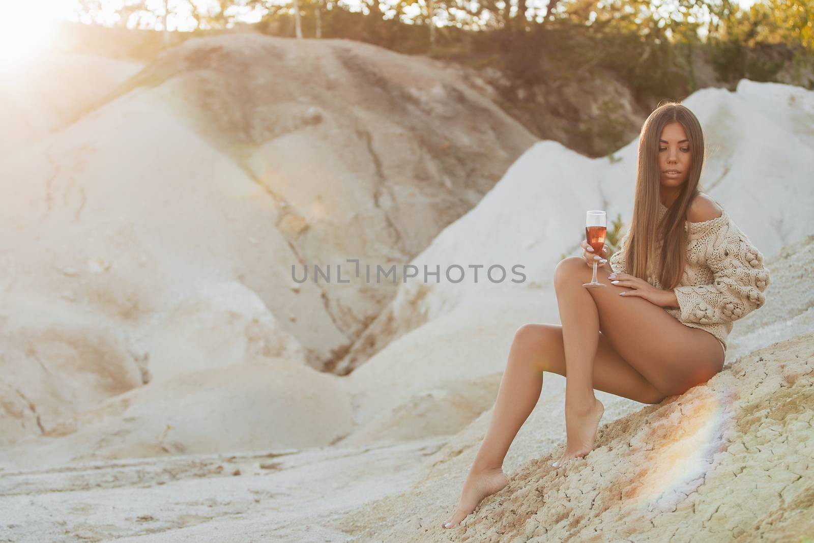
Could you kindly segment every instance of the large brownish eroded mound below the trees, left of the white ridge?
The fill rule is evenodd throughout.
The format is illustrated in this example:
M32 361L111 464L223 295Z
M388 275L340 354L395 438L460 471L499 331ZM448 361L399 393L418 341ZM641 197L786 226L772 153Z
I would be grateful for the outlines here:
M397 286L339 283L337 265L348 280L356 268L348 258L374 268L405 264L534 141L443 64L348 40L191 40L164 51L121 92L131 88L171 108L173 120L266 191L274 204L267 220L295 254L275 268L291 275L291 265L305 265L312 278L313 265L331 265L330 283L315 289L322 304L298 306L329 317L335 330L299 319L285 325L329 363ZM267 281L246 282L257 290ZM274 313L293 310L263 298ZM329 339L336 332L343 341Z

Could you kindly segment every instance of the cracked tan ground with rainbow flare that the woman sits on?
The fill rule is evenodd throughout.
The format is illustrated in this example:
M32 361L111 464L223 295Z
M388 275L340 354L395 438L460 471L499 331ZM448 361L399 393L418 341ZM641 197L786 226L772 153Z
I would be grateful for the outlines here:
M466 475L445 465L460 452L449 445L408 492L340 526L352 541L798 541L814 535L812 385L809 333L601 426L571 466L551 467L549 451L507 473L509 486L457 528L441 528Z

